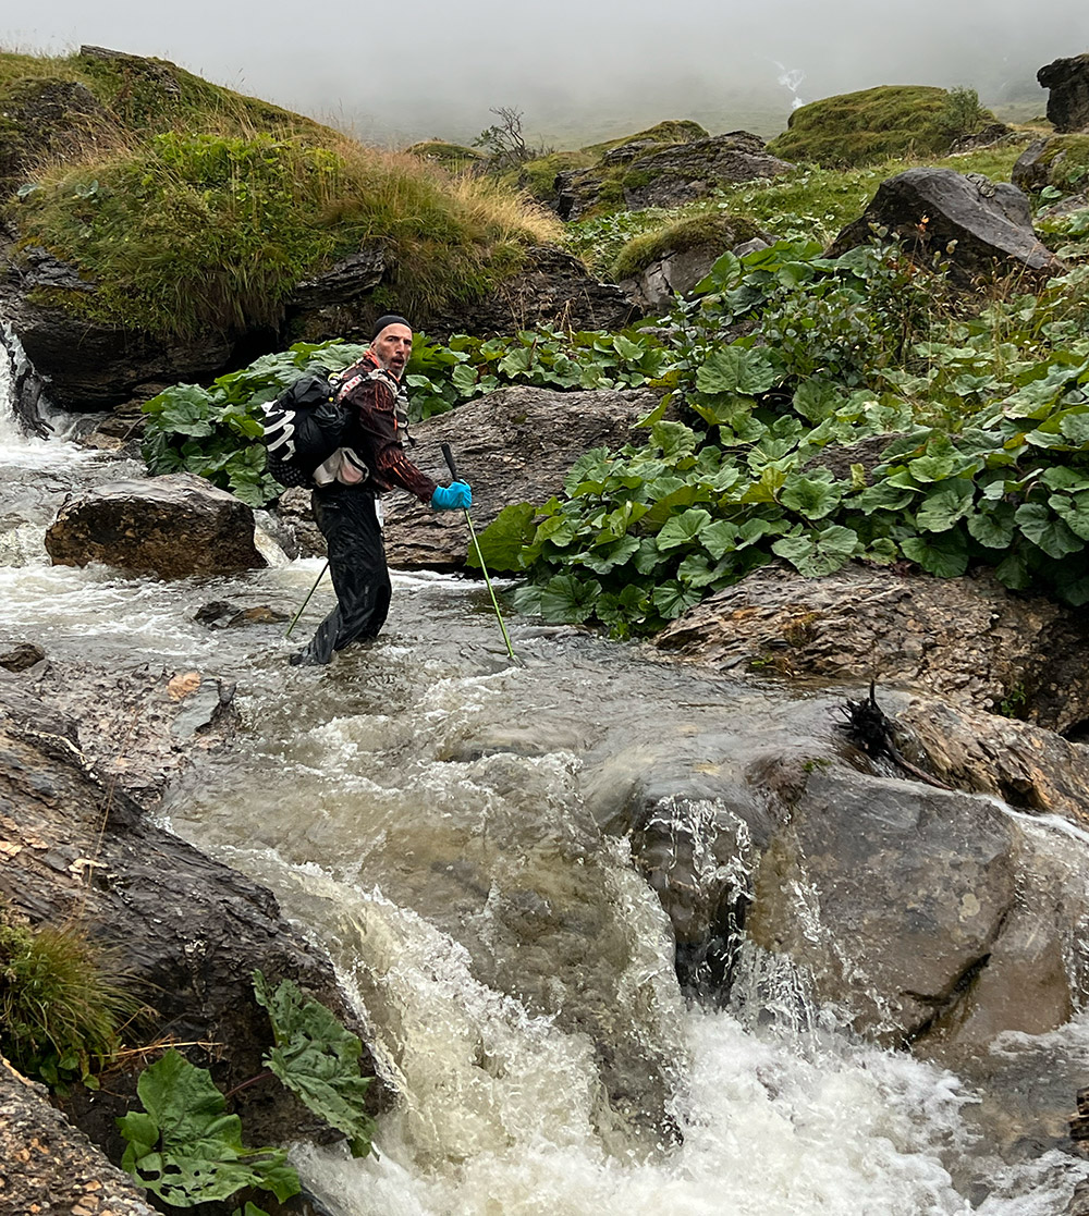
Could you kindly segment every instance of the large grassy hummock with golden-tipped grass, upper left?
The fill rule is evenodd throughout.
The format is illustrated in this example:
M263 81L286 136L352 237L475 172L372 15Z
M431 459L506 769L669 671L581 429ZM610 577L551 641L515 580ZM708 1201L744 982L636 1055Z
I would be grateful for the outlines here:
M5 79L22 58L0 56ZM58 63L97 90L112 130L39 164L5 210L21 248L46 248L92 288L38 303L89 321L161 339L275 323L296 283L374 246L398 305L427 309L484 294L560 231L494 181L365 148L173 64Z

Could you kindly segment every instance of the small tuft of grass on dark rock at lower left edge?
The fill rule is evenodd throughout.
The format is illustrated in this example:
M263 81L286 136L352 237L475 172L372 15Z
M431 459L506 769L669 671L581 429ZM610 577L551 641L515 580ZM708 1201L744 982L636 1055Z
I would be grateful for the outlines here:
M0 1051L19 1071L97 1088L135 1008L78 929L30 929L0 908Z

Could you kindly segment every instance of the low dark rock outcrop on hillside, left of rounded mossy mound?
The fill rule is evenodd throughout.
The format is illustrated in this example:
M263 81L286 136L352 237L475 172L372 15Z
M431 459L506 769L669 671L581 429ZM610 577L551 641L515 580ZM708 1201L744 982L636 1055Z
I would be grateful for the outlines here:
M650 151L624 145L591 169L573 169L556 178L556 212L577 220L606 203L627 210L679 207L702 198L717 186L757 178L775 178L793 165L769 156L764 141L748 131L730 131Z

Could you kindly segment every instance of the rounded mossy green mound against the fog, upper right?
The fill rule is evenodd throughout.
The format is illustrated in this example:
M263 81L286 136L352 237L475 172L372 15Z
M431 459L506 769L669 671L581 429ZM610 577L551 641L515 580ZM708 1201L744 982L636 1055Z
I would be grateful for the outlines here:
M909 154L941 154L970 134L965 106L944 89L927 85L879 85L825 97L796 109L787 130L768 145L785 161L825 167L857 167ZM973 111L973 124L995 122ZM973 125L973 129L975 129Z

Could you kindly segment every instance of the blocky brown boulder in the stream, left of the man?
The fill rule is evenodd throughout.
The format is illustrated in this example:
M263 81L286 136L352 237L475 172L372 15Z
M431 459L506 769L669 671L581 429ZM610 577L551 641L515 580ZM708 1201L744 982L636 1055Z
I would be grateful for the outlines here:
M54 565L101 562L159 579L269 564L254 542L253 510L191 473L96 486L61 507L45 547Z

